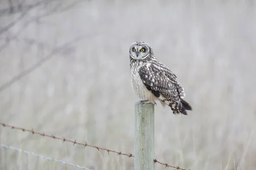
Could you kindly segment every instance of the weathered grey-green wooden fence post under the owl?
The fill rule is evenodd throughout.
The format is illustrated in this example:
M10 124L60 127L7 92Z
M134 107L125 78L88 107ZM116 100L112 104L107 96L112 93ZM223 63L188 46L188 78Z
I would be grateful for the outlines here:
M154 105L135 103L134 170L154 170Z

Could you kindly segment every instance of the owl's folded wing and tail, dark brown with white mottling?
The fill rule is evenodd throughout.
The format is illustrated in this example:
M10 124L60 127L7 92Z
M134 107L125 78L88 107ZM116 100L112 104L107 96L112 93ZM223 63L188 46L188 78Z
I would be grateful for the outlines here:
M174 114L185 114L186 110L192 110L185 97L184 89L177 82L177 77L166 65L162 63L150 63L140 68L140 78L146 88L172 108Z

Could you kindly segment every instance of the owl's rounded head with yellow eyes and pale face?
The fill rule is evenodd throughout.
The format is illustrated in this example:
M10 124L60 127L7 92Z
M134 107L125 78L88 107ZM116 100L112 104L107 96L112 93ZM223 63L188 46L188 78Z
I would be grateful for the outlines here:
M130 57L132 59L146 59L151 54L153 54L153 50L147 42L137 41L131 44Z

